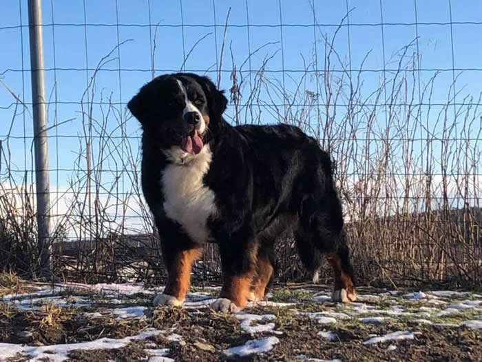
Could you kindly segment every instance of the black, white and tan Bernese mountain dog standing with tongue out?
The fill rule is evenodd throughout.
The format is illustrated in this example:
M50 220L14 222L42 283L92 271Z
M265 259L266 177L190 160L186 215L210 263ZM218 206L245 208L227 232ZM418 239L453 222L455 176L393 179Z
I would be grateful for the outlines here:
M182 305L205 243L218 244L222 265L212 308L263 299L274 243L288 229L313 279L322 254L333 267L333 301L354 301L329 155L293 125L233 126L222 117L226 106L208 77L191 73L157 77L127 104L143 130L143 193L168 274L154 305Z

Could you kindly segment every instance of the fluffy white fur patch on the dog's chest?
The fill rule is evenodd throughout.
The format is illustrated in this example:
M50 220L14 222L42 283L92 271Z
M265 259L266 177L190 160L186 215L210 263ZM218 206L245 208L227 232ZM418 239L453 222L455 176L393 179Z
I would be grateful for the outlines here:
M205 145L196 155L182 152L180 148L166 152L174 160L181 153L184 163L168 165L161 177L164 210L167 217L180 223L193 241L205 243L209 237L207 219L216 212L214 193L202 183L211 163L211 150Z

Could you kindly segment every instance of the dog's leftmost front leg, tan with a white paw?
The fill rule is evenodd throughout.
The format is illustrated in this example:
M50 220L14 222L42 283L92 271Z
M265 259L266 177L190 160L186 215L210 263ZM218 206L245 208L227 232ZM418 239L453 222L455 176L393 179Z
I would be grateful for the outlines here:
M202 247L176 248L176 244L163 244L163 257L167 268L167 283L163 294L154 299L156 305L182 305L191 283L191 266L202 254Z

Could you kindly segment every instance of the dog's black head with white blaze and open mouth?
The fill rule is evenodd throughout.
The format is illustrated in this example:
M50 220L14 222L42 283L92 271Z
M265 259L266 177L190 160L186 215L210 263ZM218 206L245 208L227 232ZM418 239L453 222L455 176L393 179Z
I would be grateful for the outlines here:
M198 154L222 123L227 99L207 77L167 74L140 89L127 108L160 148Z

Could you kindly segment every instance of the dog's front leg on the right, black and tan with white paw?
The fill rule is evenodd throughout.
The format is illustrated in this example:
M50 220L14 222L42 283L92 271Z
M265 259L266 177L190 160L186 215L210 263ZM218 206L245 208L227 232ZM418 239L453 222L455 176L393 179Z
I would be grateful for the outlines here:
M234 312L248 302L251 283L256 271L258 243L254 238L233 239L220 244L223 285L221 299L213 308L222 312Z

